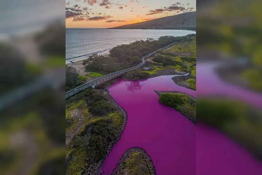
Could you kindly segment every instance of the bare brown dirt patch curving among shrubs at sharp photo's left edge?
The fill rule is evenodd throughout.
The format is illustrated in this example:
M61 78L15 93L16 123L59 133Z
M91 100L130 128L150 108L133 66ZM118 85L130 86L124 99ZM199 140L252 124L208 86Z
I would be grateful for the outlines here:
M79 131L83 128L83 126L85 125L85 118L84 118L82 112L81 112L79 109L74 109L74 110L72 110L72 111L71 111L71 116L72 116L73 118L76 118L76 119L77 119L77 123L76 123L76 126L75 126L72 130L66 132L66 145L71 142L71 140L73 139L73 137L74 137L76 134L78 134L78 132L79 132Z

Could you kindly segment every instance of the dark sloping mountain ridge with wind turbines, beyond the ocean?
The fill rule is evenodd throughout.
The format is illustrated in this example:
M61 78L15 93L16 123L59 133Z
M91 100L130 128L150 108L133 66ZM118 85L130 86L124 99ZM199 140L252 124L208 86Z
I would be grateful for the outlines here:
M196 11L174 16L152 19L134 24L111 27L107 29L176 29L196 30Z

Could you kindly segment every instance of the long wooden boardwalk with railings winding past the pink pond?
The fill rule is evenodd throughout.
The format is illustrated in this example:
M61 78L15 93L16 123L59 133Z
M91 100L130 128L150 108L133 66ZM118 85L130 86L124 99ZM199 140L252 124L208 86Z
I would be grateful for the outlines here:
M142 59L142 62L139 63L137 66L134 66L134 67L132 67L132 68L127 68L127 69L119 70L119 71L116 71L116 72L113 72L113 73L104 75L103 77L99 77L99 78L94 79L94 80L92 80L92 81L89 81L89 82L87 82L87 83L85 83L85 84L83 84L83 85L80 85L80 86L78 86L78 87L76 87L76 88L74 88L74 89L72 89L72 90L69 90L69 91L66 92L66 99L67 99L68 97L73 96L74 94L82 91L82 90L85 90L86 88L88 88L88 87L90 87L90 86L92 86L92 85L94 85L94 86L95 86L95 85L100 85L100 84L102 84L102 83L105 82L105 81L108 81L108 80L113 79L113 78L115 78L115 77L119 77L120 75L126 74L126 73L129 72L129 71L133 71L133 70L136 70L136 69L140 68L140 67L145 63L145 59L146 59L146 58L151 57L152 55L154 55L154 54L157 53L158 51L161 51L161 50L163 50L163 49L166 49L166 48L168 48L168 47L170 47L170 46L172 46L172 45L174 45L174 44L176 44L176 43L185 42L185 41L191 41L191 40L192 40L192 39L190 38L190 39L186 39L186 40L183 40L183 41L173 42L173 43L169 44L168 46L165 46L165 47L163 47L163 48L160 48L160 49L158 49L158 50L156 50L156 51L154 51L154 52L152 52L152 53L149 53L147 56L142 57L142 58L141 58L141 59Z

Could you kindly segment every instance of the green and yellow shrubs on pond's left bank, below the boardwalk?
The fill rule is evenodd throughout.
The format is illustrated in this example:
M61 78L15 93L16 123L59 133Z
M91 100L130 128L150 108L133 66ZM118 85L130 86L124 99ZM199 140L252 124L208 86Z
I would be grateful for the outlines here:
M67 111L81 108L83 115L88 116L66 151L66 174L81 174L105 158L107 147L120 134L123 117L105 101L104 94L92 88L70 97L66 104Z

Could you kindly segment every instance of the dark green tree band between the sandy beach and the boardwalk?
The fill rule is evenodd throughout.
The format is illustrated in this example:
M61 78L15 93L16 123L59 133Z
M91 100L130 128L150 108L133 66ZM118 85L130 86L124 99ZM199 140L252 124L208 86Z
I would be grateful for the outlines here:
M190 37L194 36L162 36L158 40L148 38L146 41L140 40L130 44L118 45L110 50L110 57L94 54L84 60L83 65L88 72L112 73L121 69L134 67L141 63L141 57L175 41L190 39Z

